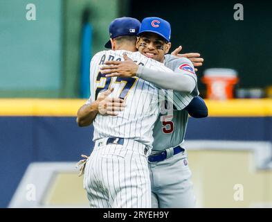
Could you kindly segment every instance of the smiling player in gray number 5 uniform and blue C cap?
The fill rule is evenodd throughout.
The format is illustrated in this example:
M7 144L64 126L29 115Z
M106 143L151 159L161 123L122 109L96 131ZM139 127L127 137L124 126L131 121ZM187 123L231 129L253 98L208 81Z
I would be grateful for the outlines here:
M155 21L155 27L152 25ZM165 33L158 29L161 26L161 19L149 17L143 19L140 27L140 38L137 41L137 48L140 53L155 58L175 72L181 72L192 76L194 67L187 58L177 58L176 56L165 55L156 48L156 41L163 37L167 42L170 38L165 37ZM170 26L170 25L169 25ZM165 28L165 27L163 27ZM167 28L167 27L166 27ZM107 67L113 69L115 74L111 76L138 76L145 78L145 67L132 65L132 61L107 62L108 65L118 65L118 67ZM129 72L128 69L131 71ZM184 73L184 70L186 71ZM106 71L108 74L109 71ZM150 73L150 71L149 71ZM194 94L198 95L197 85ZM201 117L208 115L205 103L202 105ZM172 112L162 113L158 117L154 126L154 142L152 154L149 155L149 172L152 184L152 207L194 207L195 198L192 190L191 171L188 167L188 157L184 147L185 131L188 124L188 111L172 110Z

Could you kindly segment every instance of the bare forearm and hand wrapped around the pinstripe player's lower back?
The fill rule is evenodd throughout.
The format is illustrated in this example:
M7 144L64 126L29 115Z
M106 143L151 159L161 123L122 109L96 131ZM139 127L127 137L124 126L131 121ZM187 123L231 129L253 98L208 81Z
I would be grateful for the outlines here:
M105 92L100 92L98 94L98 99L91 102L89 99L87 103L82 105L78 110L77 123L78 126L89 126L93 123L93 120L96 118L96 115L110 115L116 116L118 112L123 111L125 108L125 102L123 99L111 98L109 94L113 92L113 88L107 89Z

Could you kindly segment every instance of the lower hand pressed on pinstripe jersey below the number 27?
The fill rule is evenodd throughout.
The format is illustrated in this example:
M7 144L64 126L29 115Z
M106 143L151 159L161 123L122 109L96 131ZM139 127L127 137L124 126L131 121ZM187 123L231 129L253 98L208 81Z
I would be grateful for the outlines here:
M109 97L109 94L113 91L114 88L111 88L98 94L98 112L100 114L117 116L118 112L125 109L125 101L123 99Z

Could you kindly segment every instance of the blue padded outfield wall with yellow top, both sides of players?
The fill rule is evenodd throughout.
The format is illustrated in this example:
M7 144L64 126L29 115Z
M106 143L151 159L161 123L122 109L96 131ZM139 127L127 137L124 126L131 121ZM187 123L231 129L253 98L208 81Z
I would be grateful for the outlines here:
M79 128L75 121L75 113L84 101L71 103L71 112L67 112L69 101L65 101L65 104L47 102L39 101L42 104L39 108L37 104L31 106L36 101L26 100L23 101L26 104L24 109L19 102L0 100L0 207L8 206L30 162L77 162L81 154L91 152L93 127ZM5 104L9 105L5 107ZM17 104L21 108L16 108ZM233 114L226 116L223 113L223 117L219 117L217 112L212 111L214 106L209 104L210 117L190 118L185 139L272 142L272 117L267 114L272 109L266 108L260 116L242 117L237 114L239 116L234 117Z

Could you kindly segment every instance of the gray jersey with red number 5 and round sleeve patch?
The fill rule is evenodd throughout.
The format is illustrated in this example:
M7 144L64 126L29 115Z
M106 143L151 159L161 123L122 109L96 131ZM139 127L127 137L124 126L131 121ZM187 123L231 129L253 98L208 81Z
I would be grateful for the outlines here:
M197 83L197 76L194 73L194 66L188 58L176 58L176 56L166 55L164 60L165 67L183 75L189 75ZM199 95L197 85L190 95L181 94L184 101L192 101L194 96ZM188 112L186 110L172 110L165 114L159 114L154 126L154 142L152 152L161 152L166 148L181 144L185 137L188 124Z

